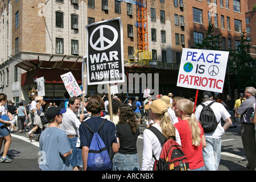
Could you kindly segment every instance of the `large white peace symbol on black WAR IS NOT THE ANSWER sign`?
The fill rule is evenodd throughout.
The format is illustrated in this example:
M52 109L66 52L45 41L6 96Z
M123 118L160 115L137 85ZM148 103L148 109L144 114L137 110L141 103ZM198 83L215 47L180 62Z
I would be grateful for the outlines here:
M104 28L108 28L113 32L113 34L114 34L113 40L109 40L104 37L104 34L103 34ZM93 44L92 38L93 38L94 33L97 30L100 30L100 38L98 38L98 40ZM113 28L112 26L108 26L108 25L101 25L93 30L92 35L90 36L90 46L97 51L104 51L105 49L112 47L114 45L114 43L117 42L117 38L118 38L118 32L117 32L117 30L115 30L115 28ZM108 43L109 45L104 47L104 42ZM98 43L100 43L100 47L97 47Z

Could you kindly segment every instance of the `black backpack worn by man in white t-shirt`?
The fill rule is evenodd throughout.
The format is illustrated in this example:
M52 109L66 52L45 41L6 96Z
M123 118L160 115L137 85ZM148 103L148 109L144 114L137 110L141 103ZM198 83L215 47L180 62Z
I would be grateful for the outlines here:
M201 122L201 126L204 129L204 133L212 133L213 131L215 131L219 123L217 122L216 116L212 108L210 108L213 103L214 102L210 102L210 104L208 105L201 104L201 106L203 106L203 109L200 113L199 120Z

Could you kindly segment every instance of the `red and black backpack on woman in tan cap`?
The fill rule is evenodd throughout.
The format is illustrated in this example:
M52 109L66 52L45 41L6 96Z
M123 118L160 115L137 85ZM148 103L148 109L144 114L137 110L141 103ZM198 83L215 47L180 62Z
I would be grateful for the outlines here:
M153 171L187 171L189 169L187 156L182 151L182 147L174 139L167 139L155 127L149 127L159 142L163 144L159 160L155 158Z

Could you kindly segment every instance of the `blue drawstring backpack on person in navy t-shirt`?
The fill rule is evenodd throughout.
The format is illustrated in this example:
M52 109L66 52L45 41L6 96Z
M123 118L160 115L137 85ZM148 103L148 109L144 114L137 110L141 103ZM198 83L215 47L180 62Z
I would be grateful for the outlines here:
M105 171L109 170L112 167L108 150L106 149L105 143L98 134L106 120L107 119L104 119L96 133L94 133L94 131L90 129L90 127L85 122L82 122L82 124L86 126L90 132L93 133L93 138L90 142L87 159L86 170L88 171Z

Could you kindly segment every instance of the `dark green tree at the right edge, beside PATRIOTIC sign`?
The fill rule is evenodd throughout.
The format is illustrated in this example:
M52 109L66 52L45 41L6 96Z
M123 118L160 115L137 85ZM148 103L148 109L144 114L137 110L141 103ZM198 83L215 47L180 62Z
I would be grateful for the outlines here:
M245 36L241 36L241 44L229 54L229 74L233 77L233 85L238 90L247 86L255 86L256 63L255 59L247 53L251 45Z

